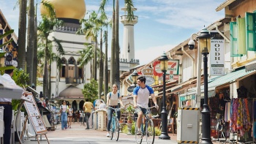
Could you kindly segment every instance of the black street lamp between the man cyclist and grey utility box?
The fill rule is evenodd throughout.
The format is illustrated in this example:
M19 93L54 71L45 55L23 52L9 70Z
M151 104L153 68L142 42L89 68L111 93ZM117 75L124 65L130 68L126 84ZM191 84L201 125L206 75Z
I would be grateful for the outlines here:
M161 58L158 59L160 61L160 67L164 75L162 75L163 79L163 94L162 94L162 132L159 135L159 139L170 140L170 137L167 133L167 110L166 110L166 102L165 102L165 75L168 67L168 58L165 52L162 54Z

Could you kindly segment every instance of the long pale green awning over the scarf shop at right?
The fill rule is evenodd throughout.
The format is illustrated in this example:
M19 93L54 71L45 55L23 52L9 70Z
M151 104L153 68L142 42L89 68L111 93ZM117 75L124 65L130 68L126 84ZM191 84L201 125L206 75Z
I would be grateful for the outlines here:
M212 80L210 83L208 83L208 97L215 96L216 88L230 85L231 83L236 82L238 79L244 79L245 77L249 77L250 75L254 74L256 74L256 70L246 72L246 69L239 69L222 77L217 77L216 80ZM204 86L200 86L200 88L201 96L203 96ZM196 88L192 88L190 91L185 94L181 94L180 96L189 96L193 94L196 94Z

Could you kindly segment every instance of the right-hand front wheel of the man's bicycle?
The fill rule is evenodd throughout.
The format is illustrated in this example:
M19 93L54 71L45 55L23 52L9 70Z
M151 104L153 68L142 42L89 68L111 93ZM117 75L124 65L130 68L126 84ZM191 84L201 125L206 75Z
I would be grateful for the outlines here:
M154 143L154 123L151 119L148 119L147 124L146 124L146 141L148 144L153 144Z

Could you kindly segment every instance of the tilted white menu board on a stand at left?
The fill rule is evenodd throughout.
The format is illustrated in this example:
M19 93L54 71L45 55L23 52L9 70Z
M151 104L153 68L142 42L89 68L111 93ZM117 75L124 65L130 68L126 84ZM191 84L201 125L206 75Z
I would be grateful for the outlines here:
M29 120L31 121L31 124L34 128L34 132L36 134L45 134L47 133L47 129L45 128L45 124L42 121L42 116L39 113L37 104L34 100L33 95L28 95L26 97L23 97L24 106L26 107L26 112L29 115Z

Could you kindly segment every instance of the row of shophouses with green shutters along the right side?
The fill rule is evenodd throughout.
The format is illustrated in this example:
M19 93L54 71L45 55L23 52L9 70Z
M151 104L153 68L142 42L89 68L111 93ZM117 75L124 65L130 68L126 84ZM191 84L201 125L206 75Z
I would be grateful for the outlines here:
M175 113L178 107L202 107L203 91L208 91L211 128L216 129L214 126L217 124L217 118L222 118L226 122L233 118L232 111L241 108L236 107L236 102L246 105L244 107L246 110L243 109L244 111L238 113L238 117L248 112L252 128L255 126L254 113L256 112L254 107L256 102L256 1L226 0L216 8L217 12L220 10L225 10L224 18L206 27L212 37L211 51L208 54L207 90L204 90L203 86L202 54L198 52L197 36L200 30L166 52L170 61L178 61L176 71L169 72L170 75L166 77L169 78L165 91L167 110ZM191 39L195 42L195 48L192 50L189 48ZM143 69L148 67L154 69L154 62L159 58L121 75L123 81L121 92L124 96L129 95L127 88L130 86L129 77L132 71L137 70L142 75ZM155 83L151 86L161 107L162 80L155 75L154 80ZM234 126L232 130L237 129ZM252 129L244 129L246 132L249 130Z

